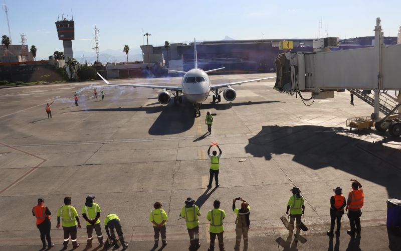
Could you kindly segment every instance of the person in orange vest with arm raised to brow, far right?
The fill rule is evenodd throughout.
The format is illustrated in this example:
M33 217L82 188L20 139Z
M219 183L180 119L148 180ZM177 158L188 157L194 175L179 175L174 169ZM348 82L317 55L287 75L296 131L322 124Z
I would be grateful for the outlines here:
M362 185L356 180L350 180L352 182L352 191L348 193L347 206L345 210L349 209L348 218L351 230L347 230L347 233L351 236L360 236L360 216L362 215L361 208L363 207L363 190Z

